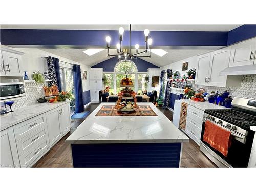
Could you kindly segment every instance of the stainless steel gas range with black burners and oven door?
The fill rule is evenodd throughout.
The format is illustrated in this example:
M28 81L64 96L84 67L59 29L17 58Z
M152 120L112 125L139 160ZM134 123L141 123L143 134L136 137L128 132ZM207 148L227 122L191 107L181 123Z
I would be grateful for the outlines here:
M255 135L255 132L250 129L256 125L255 107L256 101L234 98L232 109L205 110L201 132L201 152L219 167L247 167ZM231 132L231 146L226 157L203 141L206 121Z

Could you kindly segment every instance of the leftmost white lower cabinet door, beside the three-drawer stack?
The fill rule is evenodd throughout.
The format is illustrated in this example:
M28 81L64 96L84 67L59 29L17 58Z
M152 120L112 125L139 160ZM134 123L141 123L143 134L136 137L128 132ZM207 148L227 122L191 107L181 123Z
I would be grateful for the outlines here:
M13 127L0 132L0 165L1 167L19 167L18 151Z

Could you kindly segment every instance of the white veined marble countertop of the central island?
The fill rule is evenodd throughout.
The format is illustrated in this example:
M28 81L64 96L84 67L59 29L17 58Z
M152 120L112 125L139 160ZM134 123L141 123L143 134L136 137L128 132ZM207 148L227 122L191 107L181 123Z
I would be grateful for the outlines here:
M158 116L95 116L103 105L113 105L113 103L101 103L66 139L66 142L71 144L189 142L188 137L152 103L138 103L138 105L150 105Z

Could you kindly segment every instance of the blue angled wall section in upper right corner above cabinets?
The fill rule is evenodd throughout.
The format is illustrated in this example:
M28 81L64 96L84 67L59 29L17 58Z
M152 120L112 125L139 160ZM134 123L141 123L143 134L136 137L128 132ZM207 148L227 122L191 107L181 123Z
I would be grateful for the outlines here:
M242 25L236 29L229 31L227 45L256 37L256 25Z

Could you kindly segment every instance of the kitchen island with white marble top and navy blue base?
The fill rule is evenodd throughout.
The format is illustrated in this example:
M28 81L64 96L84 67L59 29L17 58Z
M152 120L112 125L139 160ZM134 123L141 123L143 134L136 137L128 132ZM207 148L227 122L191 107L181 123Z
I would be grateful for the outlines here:
M189 142L152 103L157 116L95 116L101 103L66 139L74 167L179 167Z

